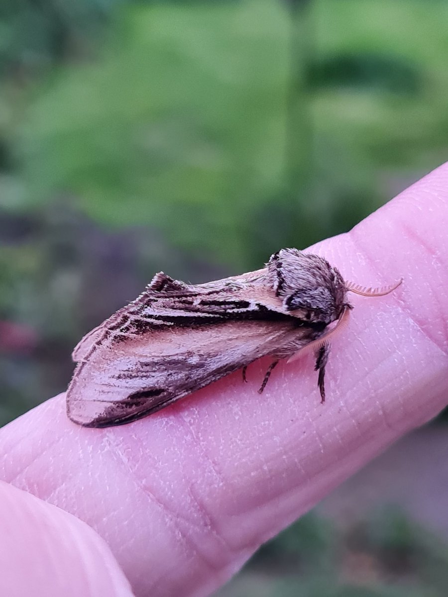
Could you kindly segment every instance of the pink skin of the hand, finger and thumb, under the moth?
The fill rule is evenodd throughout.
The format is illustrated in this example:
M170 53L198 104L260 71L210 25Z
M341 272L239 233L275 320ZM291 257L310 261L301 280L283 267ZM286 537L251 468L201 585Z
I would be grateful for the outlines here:
M111 556L102 537L134 595L208 595L263 541L434 417L448 385L447 230L444 165L352 232L312 249L357 284L404 279L385 297L351 295L355 308L333 341L324 405L305 355L279 364L262 396L266 359L250 365L246 384L238 371L127 426L78 427L67 420L61 395L4 427L2 478L98 536L4 485L3 511L16 521L8 533L0 527L0 537L22 541L22 550L10 553L0 594L12 594L2 586L6 578L33 595L59 595L52 588L57 558L67 585L105 583L103 593L92 584L73 595L129 595L118 567L115 593L107 589ZM42 553L44 543L52 558ZM39 587L32 567L24 568L36 556Z

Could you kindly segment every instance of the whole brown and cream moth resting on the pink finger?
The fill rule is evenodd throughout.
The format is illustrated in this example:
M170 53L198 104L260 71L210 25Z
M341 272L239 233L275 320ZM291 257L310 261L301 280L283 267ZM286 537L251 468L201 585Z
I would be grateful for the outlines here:
M348 293L383 296L398 285L345 282L318 255L282 249L262 269L207 284L157 273L142 294L84 336L67 390L69 418L86 427L130 423L262 356L312 351L321 401L330 338L348 321Z

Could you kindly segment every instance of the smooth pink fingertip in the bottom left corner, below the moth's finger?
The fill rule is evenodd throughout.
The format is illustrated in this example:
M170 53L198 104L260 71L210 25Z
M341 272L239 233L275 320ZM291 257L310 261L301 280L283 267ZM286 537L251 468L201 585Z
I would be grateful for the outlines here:
M75 516L0 482L0 595L132 597L105 541Z

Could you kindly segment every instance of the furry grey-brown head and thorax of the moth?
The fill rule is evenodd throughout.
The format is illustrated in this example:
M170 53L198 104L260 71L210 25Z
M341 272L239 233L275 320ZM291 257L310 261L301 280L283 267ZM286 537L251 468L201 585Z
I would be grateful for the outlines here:
M282 249L269 260L268 272L284 309L299 319L329 324L349 307L339 270L323 257Z

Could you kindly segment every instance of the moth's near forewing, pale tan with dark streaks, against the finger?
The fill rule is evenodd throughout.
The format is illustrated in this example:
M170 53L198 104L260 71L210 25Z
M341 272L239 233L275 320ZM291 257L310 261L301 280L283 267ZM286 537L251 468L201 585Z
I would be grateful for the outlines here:
M76 367L67 414L87 427L128 423L278 352L294 338L293 318L152 328L131 340L111 334Z

